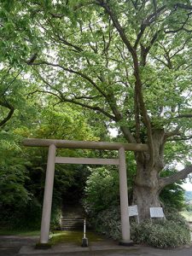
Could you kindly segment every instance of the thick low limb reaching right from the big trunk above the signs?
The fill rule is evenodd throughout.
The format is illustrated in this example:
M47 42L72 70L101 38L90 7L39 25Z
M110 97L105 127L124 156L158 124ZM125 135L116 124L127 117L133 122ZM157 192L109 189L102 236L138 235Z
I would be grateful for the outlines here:
M180 179L185 179L188 177L189 173L192 172L192 166L186 166L182 171L174 173L172 176L169 177L160 177L159 184L160 188L164 188L166 185L171 183L176 183Z

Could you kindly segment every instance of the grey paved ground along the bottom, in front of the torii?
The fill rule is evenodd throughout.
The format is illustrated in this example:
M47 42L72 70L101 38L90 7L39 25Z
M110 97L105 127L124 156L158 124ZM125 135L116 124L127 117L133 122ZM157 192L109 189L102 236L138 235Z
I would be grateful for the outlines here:
M38 236L0 236L0 256L191 256L192 245L175 249L157 249L134 245L122 247L108 239L89 241L89 247L80 247L79 241L59 243L49 250L34 250ZM21 249L20 249L21 248Z

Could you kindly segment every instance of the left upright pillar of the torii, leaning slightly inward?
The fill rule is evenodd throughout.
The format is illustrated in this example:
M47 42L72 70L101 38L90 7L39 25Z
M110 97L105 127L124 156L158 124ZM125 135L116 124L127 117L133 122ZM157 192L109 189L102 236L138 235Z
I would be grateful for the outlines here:
M50 145L48 160L47 160L45 185L44 185L44 205L43 205L42 220L41 220L40 243L49 242L49 226L50 226L50 215L51 215L54 174L55 174L55 152L56 152L55 145L54 144Z

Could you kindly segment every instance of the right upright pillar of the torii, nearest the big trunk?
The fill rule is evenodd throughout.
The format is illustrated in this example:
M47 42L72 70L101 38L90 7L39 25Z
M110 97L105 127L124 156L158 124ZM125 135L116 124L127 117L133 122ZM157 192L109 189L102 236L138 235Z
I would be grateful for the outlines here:
M119 148L119 190L122 241L120 245L131 245L130 220L128 215L128 190L126 177L125 149Z

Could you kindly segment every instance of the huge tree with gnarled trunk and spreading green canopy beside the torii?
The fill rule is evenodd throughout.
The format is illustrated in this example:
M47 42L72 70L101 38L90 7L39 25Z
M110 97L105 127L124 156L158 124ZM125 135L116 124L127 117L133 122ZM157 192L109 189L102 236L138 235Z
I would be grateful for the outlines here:
M148 144L135 153L139 211L151 195L143 218L167 184L192 172L191 9L188 0L1 3L2 58L28 74L29 94L89 109L127 142ZM185 167L160 177L166 152Z

